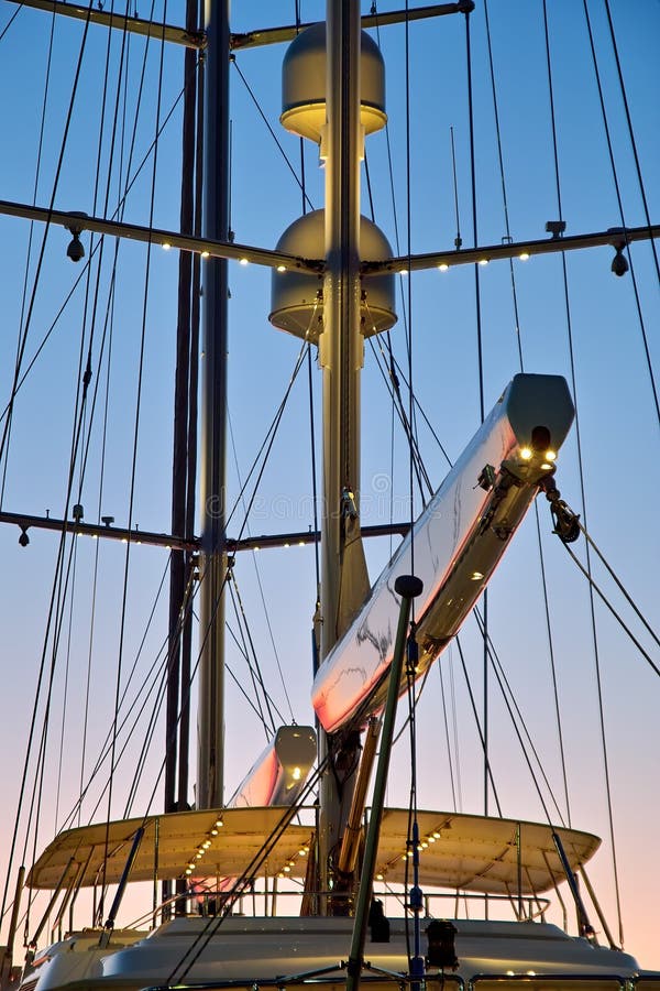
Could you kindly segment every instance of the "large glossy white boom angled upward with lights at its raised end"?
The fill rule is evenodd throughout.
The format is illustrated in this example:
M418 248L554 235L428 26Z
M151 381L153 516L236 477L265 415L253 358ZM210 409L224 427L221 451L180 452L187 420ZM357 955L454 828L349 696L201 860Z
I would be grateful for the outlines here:
M364 725L383 705L399 609L394 584L399 575L414 570L424 581L424 593L416 600L418 677L458 633L539 483L552 473L573 415L569 389L560 375L518 374L507 385L321 664L312 703L327 732L348 722Z

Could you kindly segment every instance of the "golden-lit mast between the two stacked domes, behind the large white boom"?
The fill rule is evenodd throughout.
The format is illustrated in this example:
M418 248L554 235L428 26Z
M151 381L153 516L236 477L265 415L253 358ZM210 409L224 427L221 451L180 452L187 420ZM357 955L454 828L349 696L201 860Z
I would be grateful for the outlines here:
M327 3L326 275L323 331L323 516L321 531L321 658L369 590L361 541L350 549L360 488L360 4ZM358 530L359 534L359 530ZM321 749L330 749L327 738ZM328 859L340 840L340 806L332 771L321 784L319 882L330 887Z

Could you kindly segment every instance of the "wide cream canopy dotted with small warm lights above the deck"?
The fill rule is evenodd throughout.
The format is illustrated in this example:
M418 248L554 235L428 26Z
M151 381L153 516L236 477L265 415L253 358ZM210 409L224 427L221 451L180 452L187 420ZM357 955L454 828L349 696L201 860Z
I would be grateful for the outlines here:
M290 821L290 808L232 808L169 813L123 819L62 832L38 858L30 887L54 889L75 878L91 885L116 883L133 839L140 843L131 881L204 876L207 880L263 876L301 879L314 827ZM542 894L564 880L552 838L557 832L573 871L596 852L598 837L575 829L458 813L418 812L420 883L488 894ZM385 809L376 879L406 879L408 810Z

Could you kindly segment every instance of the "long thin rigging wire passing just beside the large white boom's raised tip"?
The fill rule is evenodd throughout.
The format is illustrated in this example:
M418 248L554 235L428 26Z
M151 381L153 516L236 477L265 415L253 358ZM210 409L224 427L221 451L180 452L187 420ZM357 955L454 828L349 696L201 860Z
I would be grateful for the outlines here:
M559 152L558 152L558 140L557 140L557 123L556 123L556 112L554 112L554 91L552 84L552 64L550 58L550 33L548 26L548 4L547 0L542 2L543 10L543 32L544 32L544 42L546 42L546 64L548 72L548 95L550 102L550 123L551 123L551 133L552 133L552 154L554 160L554 183L557 190L557 204L559 209L559 218L562 219L563 211L561 205L561 183L560 183L560 172L559 172ZM562 264L562 276L563 276L563 295L564 295L564 309L565 309L565 318L566 318L566 334L568 334L568 342L569 342L569 355L570 355L570 363L571 363L571 384L573 389L573 401L575 404L575 438L578 446L578 465L579 465L579 475L580 475L580 492L582 499L582 507L584 511L584 522L586 525L586 491L585 491L585 480L584 480L584 466L582 459L582 439L581 439L581 431L580 431L580 415L579 415L579 406L578 406L578 388L575 381L575 360L574 360L574 351L573 351L573 330L572 330L572 319L571 319L571 303L569 295L569 276L566 269L566 257L565 253L561 253L561 264ZM588 544L586 545L586 570L591 576L591 555ZM615 897L616 897L616 907L617 907L617 919L618 919L618 932L619 932L619 943L624 945L624 930L623 930L623 917L622 917L622 900L620 900L620 890L619 890L619 879L618 879L618 864L617 864L617 856L616 856L616 842L614 835L614 813L612 808L612 788L609 784L609 760L607 753L607 739L605 733L605 714L603 708L603 684L601 676L601 657L598 650L598 638L596 631L596 616L595 616L595 602L594 602L594 592L593 587L590 584L588 590L588 600L590 600L590 613L591 613L591 628L592 628L592 642L594 649L594 666L595 666L595 675L596 675L596 690L598 698L598 715L601 722L601 748L603 753L603 765L604 765L604 775L605 775L605 788L606 788L606 797L607 797L607 816L608 816L608 827L609 827L609 840L612 846L612 865L613 865L613 875L614 875L614 887L615 887Z

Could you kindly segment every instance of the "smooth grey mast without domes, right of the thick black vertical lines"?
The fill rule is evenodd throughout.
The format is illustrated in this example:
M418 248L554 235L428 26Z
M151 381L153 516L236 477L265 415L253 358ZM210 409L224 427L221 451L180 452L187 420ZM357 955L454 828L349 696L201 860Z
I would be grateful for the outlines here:
M206 0L204 236L229 233L229 0ZM204 270L201 385L201 587L197 807L222 805L224 595L227 574L227 261Z

